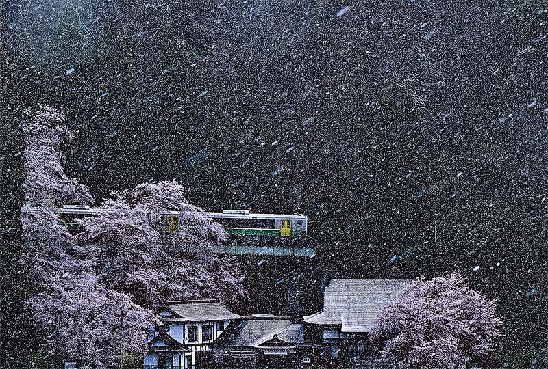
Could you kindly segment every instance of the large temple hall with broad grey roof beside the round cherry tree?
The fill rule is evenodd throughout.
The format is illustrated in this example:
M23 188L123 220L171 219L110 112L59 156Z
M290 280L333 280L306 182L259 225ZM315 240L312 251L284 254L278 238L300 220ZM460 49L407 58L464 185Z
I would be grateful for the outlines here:
M401 297L412 277L412 272L328 272L323 310L303 319L311 358L303 367L382 368L369 333L382 310Z

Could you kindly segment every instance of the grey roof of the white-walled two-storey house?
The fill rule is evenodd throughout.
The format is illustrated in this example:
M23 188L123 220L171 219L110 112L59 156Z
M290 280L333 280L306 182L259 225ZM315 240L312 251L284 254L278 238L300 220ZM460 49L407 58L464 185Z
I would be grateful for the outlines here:
M167 322L204 322L242 318L216 300L169 301L168 310L161 312L160 316Z

